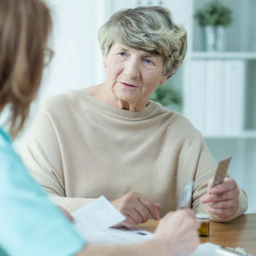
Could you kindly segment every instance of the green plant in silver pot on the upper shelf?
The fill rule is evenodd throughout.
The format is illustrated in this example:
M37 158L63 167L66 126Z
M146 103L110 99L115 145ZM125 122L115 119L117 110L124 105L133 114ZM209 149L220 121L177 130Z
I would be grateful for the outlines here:
M227 28L233 22L232 11L218 0L213 0L195 13L195 19L202 27L204 48L207 51L224 51Z

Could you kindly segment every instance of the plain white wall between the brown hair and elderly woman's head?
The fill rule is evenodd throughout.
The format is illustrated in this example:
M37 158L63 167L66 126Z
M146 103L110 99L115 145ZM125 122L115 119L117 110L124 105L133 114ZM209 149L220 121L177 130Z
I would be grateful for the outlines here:
M23 134L15 142L20 149L38 105L49 96L102 83L105 70L97 31L105 22L105 0L47 0L52 9L53 31L49 47L54 57L44 70L38 99L33 103Z

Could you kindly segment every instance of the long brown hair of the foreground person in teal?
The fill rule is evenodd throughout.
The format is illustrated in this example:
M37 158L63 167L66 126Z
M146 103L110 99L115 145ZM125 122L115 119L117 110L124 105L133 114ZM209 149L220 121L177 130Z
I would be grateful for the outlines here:
M23 128L38 93L51 28L42 0L0 0L0 113L10 105L12 137Z

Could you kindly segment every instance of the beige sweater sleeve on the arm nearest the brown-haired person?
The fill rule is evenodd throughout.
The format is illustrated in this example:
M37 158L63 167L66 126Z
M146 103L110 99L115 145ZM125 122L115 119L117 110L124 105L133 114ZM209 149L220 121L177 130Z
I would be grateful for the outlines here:
M94 200L66 197L58 135L44 108L38 111L20 155L32 176L56 205L73 212Z

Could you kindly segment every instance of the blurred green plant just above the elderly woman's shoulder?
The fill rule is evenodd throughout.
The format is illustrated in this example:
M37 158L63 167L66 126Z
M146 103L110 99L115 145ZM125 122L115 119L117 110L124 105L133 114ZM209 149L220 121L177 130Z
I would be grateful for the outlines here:
M150 100L159 102L163 106L177 105L181 107L182 97L179 91L170 85L160 85L149 97Z

